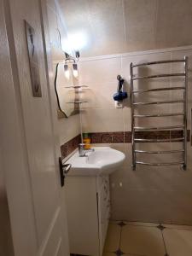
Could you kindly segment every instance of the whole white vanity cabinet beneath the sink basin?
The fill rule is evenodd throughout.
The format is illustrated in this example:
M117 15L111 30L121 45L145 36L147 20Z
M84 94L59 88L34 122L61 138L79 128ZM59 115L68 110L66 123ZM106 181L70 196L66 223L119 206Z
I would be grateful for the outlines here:
M110 217L108 176L68 176L70 253L102 256Z

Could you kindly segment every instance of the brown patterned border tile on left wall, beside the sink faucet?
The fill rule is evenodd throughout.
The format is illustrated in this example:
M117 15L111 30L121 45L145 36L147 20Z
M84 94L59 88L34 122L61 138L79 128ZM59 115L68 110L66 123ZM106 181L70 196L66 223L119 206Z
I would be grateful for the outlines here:
M79 143L81 143L80 134L76 137L73 137L73 139L71 139L67 143L61 145L61 156L63 158L67 157L67 155L71 154L73 150L78 148Z

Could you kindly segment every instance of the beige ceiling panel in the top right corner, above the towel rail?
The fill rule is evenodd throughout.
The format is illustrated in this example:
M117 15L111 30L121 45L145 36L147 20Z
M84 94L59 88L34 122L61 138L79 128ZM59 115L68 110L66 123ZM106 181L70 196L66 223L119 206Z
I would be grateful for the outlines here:
M192 42L192 3L187 0L159 0L156 26L156 47L177 47Z

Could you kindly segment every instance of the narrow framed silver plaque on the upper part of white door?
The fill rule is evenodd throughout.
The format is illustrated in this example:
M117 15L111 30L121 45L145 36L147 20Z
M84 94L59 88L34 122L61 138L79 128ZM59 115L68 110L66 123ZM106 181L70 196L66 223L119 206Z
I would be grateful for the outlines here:
M29 55L29 66L32 79L32 96L41 97L41 84L40 84L40 75L38 68L38 53L37 53L37 44L35 40L35 30L30 26L25 20L26 26L26 43Z

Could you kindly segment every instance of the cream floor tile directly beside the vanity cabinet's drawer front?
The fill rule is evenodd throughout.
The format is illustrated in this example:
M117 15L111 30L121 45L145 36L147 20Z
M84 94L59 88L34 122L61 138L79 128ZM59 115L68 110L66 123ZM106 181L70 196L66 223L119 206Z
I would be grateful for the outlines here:
M108 225L108 234L105 241L104 252L115 252L119 249L120 226L110 223Z

